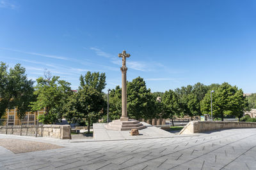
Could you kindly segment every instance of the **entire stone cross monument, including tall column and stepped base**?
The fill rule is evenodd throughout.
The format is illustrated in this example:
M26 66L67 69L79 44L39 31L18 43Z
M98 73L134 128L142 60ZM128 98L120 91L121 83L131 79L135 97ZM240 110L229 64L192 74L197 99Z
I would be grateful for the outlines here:
M122 116L119 120L113 120L109 124L106 124L107 129L118 131L129 131L131 129L144 129L145 125L138 122L138 120L129 120L127 115L127 86L126 86L126 58L130 57L129 53L125 50L118 54L118 57L122 57L122 67L120 67L122 73Z

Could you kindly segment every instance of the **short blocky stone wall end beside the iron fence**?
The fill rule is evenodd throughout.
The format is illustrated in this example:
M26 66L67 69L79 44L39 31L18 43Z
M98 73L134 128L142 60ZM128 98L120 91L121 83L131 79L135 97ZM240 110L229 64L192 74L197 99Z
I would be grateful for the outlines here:
M71 139L70 125L44 125L43 137Z

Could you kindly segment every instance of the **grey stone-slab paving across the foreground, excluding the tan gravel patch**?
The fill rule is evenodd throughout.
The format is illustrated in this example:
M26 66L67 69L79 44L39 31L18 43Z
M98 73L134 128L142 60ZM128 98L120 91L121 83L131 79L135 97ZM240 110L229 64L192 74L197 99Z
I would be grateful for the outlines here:
M256 169L256 129L83 143L19 138L56 143L65 148L18 154L0 148L0 169Z

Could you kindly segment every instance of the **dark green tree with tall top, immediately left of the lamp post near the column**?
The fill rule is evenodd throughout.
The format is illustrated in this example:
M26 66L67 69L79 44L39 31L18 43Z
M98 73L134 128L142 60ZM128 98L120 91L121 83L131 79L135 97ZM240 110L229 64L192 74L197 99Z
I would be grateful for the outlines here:
M88 71L84 76L81 75L79 90L71 96L66 106L68 111L65 117L68 122L86 122L90 133L90 125L97 122L106 110L107 104L102 92L105 86L105 73Z

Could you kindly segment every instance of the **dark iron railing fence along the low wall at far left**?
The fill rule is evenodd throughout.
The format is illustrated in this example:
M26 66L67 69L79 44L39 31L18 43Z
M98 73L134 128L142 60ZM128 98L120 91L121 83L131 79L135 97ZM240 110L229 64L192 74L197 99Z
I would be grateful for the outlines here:
M18 120L17 120L18 121ZM29 125L27 121L26 124L19 120L20 122L10 125L10 120L0 119L0 134L16 134L20 136L35 136L35 137L42 137L43 136L43 124L36 124Z

